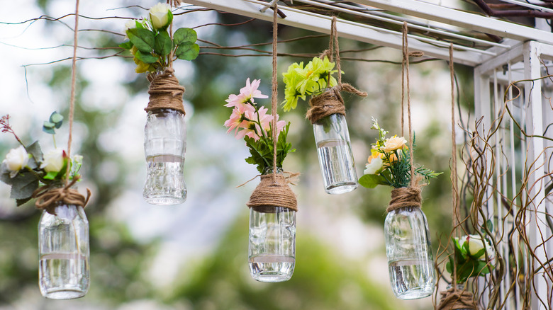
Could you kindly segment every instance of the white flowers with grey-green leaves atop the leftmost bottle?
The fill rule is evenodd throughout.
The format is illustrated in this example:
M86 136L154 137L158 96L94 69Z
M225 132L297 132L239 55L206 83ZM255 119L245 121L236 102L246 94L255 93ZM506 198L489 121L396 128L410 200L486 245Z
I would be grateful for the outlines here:
M18 206L28 202L38 188L47 189L62 185L68 165L69 180L80 177L82 156L74 155L69 159L65 150L55 147L55 129L62 126L62 115L54 112L50 119L44 122L43 131L52 134L54 139L54 149L46 154L43 154L38 141L24 144L13 131L9 120L9 115L1 117L0 129L2 132L13 134L21 145L6 154L6 159L0 165L0 180L11 185L10 197L16 200Z

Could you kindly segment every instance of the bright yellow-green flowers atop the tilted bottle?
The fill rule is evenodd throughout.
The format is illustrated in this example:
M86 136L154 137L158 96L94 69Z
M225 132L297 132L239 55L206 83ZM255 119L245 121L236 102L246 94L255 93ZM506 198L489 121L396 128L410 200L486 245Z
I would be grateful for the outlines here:
M284 111L293 110L298 105L298 99L305 101L307 96L320 93L325 88L337 85L333 74L335 63L330 62L327 56L313 59L303 66L303 62L291 64L288 71L282 74L284 77Z

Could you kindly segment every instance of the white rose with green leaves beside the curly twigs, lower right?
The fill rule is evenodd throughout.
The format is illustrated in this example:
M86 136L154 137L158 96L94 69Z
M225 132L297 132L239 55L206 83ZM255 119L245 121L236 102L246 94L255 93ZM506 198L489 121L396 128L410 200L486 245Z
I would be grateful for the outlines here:
M463 284L469 277L484 277L493 270L496 252L485 237L482 239L478 235L468 235L453 237L452 241L454 254L449 256L445 268L453 275L455 266L455 283Z

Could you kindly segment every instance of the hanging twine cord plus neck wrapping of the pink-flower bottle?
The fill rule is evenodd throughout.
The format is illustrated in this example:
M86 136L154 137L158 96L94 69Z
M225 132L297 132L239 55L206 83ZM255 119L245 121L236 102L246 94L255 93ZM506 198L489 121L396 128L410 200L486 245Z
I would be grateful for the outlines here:
M275 212L274 207L285 207L293 211L298 211L298 200L296 195L291 190L289 183L292 183L292 178L299 173L290 173L289 177L285 177L281 173L277 174L277 39L278 39L278 7L274 4L273 8L273 75L272 75L272 137L273 137L273 173L271 175L262 175L259 185L255 188L250 201L247 202L247 207L255 208L257 212L270 213ZM257 178L257 176L256 176ZM249 182L249 181L248 181Z

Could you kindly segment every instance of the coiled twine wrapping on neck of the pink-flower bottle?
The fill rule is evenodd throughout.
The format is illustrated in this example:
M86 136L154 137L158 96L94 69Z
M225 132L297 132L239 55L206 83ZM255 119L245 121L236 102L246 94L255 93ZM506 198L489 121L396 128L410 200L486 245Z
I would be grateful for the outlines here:
M267 174L261 176L259 185L255 188L247 207L255 208L258 212L272 212L271 207L285 207L298 211L296 194L288 185L287 180L281 174Z

